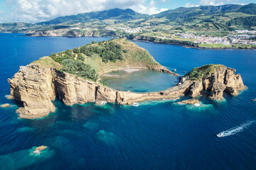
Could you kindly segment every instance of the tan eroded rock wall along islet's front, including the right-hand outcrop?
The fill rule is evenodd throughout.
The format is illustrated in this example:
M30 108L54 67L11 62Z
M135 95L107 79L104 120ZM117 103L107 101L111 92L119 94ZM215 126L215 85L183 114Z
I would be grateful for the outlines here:
M223 91L237 95L239 91L246 88L240 74L235 74L235 69L220 66L201 79L191 79L188 74L186 77L181 77L180 83L176 86L165 91L139 94L117 91L73 74L29 64L21 67L14 77L9 79L10 95L23 103L23 107L17 110L21 118L41 118L55 111L55 106L51 102L55 97L69 106L94 101L132 104L138 101L178 98L184 95L195 97L201 95L203 91L209 91L210 98L222 99Z

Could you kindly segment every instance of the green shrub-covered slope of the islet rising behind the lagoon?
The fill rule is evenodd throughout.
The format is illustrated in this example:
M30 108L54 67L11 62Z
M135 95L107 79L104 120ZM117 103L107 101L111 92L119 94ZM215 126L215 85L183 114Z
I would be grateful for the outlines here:
M159 69L161 65L138 45L124 39L95 42L73 50L52 53L32 62L97 81L100 74L129 67Z

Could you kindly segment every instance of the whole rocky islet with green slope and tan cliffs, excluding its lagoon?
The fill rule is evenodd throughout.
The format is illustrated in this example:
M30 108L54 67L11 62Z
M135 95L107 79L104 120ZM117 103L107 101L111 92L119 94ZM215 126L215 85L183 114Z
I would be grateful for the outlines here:
M224 91L237 95L246 89L235 69L220 64L195 68L165 91L140 94L117 91L99 83L98 75L124 68L152 69L178 76L132 42L123 39L93 42L20 67L9 79L10 97L21 101L17 110L21 118L41 118L55 111L51 102L55 98L69 106L95 101L129 105L184 95L196 97L205 92L212 99L223 99Z

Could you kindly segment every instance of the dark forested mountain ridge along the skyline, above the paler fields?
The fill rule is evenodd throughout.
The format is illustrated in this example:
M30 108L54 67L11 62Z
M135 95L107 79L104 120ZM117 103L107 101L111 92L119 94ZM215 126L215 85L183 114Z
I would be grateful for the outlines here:
M87 23L94 20L105 20L114 19L117 21L131 21L139 18L167 18L170 21L176 21L177 19L188 19L193 16L208 16L217 13L246 13L256 15L256 4L248 4L245 6L238 4L228 4L223 6L198 6L185 8L180 7L176 9L171 9L154 15L146 15L142 13L137 13L130 8L120 9L114 8L106 11L96 11L90 13L80 13L73 16L62 16L55 18L50 21L45 21L37 23L37 25L50 25L50 24L72 24L72 23Z

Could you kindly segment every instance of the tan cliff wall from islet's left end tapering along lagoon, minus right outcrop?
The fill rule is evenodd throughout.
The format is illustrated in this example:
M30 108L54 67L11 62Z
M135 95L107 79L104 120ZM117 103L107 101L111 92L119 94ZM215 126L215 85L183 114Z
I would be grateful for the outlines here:
M41 118L55 111L51 101L58 97L63 103L72 106L75 103L107 101L109 103L131 104L134 101L176 98L184 95L191 85L186 82L166 91L136 94L117 91L96 82L60 72L53 68L29 64L9 79L11 94L23 107L18 108L20 118Z

